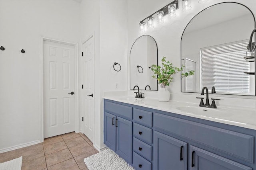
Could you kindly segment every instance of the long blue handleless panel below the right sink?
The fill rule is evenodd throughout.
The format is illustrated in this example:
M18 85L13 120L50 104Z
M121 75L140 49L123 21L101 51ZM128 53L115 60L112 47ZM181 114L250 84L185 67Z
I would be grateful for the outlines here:
M153 117L153 126L159 131L191 139L211 149L253 163L253 136L160 113L153 113Z

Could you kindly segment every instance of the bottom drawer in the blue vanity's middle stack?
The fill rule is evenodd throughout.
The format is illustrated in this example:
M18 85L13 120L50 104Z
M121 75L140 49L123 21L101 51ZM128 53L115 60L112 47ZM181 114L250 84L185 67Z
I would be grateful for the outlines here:
M133 167L136 170L151 170L152 164L140 155L136 154L136 152L133 152Z

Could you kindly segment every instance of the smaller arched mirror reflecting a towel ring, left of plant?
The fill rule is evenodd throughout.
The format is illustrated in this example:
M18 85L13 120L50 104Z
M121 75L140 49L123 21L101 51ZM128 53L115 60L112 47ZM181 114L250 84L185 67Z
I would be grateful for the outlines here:
M158 90L157 80L152 78L152 64L157 65L156 41L149 35L142 35L130 51L130 89L137 85L142 90L146 86L146 90Z

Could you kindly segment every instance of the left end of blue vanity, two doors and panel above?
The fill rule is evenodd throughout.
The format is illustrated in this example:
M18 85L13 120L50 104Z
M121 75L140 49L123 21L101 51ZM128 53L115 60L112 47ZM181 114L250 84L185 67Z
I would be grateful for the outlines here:
M132 107L104 100L104 144L132 164Z

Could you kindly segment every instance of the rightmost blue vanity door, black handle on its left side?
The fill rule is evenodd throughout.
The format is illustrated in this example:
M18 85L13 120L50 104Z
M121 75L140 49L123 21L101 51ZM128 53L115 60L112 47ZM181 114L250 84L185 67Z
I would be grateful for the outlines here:
M191 146L189 170L252 170L252 168L218 156L206 150Z

